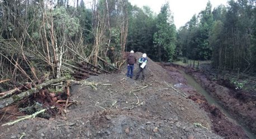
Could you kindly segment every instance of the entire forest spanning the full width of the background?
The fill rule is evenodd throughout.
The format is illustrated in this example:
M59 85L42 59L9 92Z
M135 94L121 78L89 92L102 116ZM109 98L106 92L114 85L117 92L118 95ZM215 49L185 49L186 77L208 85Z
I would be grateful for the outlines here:
M8 85L69 76L81 61L111 71L125 51L155 61L181 57L256 72L255 0L230 0L176 28L169 3L159 13L128 0L0 1L0 76ZM1 88L0 88L1 89Z

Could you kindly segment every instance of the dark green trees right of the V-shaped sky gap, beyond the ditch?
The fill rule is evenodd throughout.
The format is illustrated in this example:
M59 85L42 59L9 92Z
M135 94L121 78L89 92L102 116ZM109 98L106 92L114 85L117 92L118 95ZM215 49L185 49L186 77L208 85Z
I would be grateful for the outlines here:
M215 68L256 72L256 2L229 1L205 10L178 31L177 53L193 60L212 60Z

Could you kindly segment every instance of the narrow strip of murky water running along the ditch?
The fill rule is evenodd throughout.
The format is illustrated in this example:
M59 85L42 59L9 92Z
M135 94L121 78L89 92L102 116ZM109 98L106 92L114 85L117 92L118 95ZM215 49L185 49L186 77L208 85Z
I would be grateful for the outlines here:
M253 134L252 131L249 130L249 128L245 127L243 125L243 123L240 123L239 121L236 121L234 117L232 117L230 115L229 112L227 112L222 106L220 106L220 104L213 98L211 97L210 94L208 94L206 92L205 89L203 89L201 87L200 84L198 84L196 82L195 79L193 79L193 77L191 75L186 74L183 70L179 70L181 72L181 74L184 76L185 79L187 79L187 82L189 85L191 85L193 88L195 88L197 90L198 93L202 94L203 96L205 96L207 102L209 104L214 104L217 108L219 108L221 110L221 112L223 112L229 119L231 119L233 122L235 122L236 124L238 124L239 126L241 126L241 128L243 128L244 132L246 133L246 135L250 138L250 139L255 139L256 135Z

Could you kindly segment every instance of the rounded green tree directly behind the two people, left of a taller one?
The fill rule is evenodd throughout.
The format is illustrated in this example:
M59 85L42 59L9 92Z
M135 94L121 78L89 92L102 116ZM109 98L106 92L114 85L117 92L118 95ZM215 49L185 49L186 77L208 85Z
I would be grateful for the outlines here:
M148 56L154 59L155 53L152 49L155 30L155 13L146 6L143 9L136 6L132 7L127 50L146 52Z

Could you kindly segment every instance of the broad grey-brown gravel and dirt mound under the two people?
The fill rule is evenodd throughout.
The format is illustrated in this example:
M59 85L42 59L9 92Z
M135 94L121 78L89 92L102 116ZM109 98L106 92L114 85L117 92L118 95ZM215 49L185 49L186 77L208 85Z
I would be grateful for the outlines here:
M1 126L0 138L248 138L187 85L176 67L162 66L149 59L145 80L126 78L125 66L118 74L91 76L87 81L112 85L72 85L78 103L67 113ZM0 124L15 119L15 106L1 109Z

